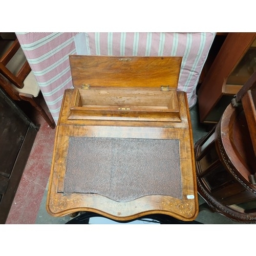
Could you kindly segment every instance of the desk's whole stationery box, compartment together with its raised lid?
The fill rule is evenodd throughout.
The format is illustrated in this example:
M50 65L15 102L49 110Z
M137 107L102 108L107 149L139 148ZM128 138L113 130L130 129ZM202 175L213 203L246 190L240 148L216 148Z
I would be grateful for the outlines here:
M181 57L70 55L70 120L180 122Z

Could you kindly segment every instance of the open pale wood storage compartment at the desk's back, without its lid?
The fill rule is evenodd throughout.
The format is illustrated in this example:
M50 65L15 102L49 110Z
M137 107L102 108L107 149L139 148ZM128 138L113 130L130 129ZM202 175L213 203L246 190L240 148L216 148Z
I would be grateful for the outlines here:
M176 89L75 88L69 119L181 122Z

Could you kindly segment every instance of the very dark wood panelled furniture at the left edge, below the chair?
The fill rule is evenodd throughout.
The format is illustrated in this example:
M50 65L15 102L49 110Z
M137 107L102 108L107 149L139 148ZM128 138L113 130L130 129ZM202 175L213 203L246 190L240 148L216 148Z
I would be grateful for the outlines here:
M5 224L39 127L0 88L0 224Z

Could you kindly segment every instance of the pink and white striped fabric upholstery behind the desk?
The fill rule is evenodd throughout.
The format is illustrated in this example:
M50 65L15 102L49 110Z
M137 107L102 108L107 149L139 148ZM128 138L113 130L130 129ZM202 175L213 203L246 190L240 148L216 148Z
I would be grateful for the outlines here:
M182 56L178 90L196 103L196 86L215 33L16 33L57 123L63 92L72 88L69 55Z

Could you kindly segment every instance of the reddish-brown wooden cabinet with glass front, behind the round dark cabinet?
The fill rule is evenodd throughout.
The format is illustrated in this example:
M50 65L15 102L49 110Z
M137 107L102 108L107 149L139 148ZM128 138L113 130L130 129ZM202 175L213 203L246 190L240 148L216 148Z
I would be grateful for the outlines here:
M200 121L217 123L256 69L256 33L228 33L198 89Z

